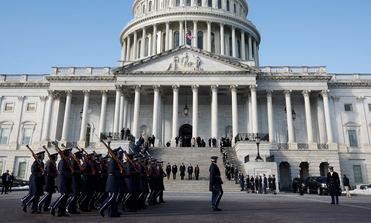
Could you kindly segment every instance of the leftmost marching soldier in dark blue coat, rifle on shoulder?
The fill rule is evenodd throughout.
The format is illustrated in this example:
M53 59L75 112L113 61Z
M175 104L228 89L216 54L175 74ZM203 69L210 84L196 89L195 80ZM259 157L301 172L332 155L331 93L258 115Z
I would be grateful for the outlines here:
M43 160L45 158L44 155L45 151L38 152L35 155L37 156L37 159L39 159L39 162L44 168ZM32 203L31 208L31 214L40 214L41 212L38 210L39 206L39 199L40 196L44 196L43 192L43 185L45 183L45 174L41 172L41 168L39 164L36 162L36 160L32 163L31 166L31 176L30 176L30 185L29 185L29 192L28 195L23 197L21 200L21 206L24 213L27 212L26 208L27 206L30 206Z

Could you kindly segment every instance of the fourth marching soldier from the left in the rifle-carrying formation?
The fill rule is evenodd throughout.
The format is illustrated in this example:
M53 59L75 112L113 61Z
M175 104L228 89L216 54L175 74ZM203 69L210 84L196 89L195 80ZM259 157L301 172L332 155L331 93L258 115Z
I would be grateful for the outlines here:
M75 154L75 157L79 161L79 163L80 163L80 160L82 159L82 153L83 153L83 150L73 153ZM71 161L71 166L75 171L80 170L79 163L76 162L74 159ZM85 170L82 170L81 172L84 173ZM66 207L66 210L70 214L80 214L80 212L76 210L76 204L77 204L78 198L81 193L81 187L82 187L81 175L76 175L76 174L72 175L72 193L69 194L70 199L67 201L67 207Z

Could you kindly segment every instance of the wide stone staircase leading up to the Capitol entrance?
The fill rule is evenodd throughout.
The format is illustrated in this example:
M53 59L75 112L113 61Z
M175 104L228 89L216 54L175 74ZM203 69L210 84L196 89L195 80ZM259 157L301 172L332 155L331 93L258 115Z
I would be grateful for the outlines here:
M230 164L233 164L234 167L237 166L239 170L242 170L245 176L245 170L243 165L239 165L236 152L232 148L226 148L228 161ZM164 161L164 171L166 169L167 163L170 163L173 166L174 163L178 166L178 172L176 179L173 180L173 173L170 174L170 179L164 178L165 190L168 191L209 191L209 168L211 164L210 157L218 156L219 162L217 165L220 169L221 178L223 180L223 191L225 192L239 192L240 185L235 184L235 181L228 181L225 178L225 170L223 166L223 161L221 159L220 149L219 148L210 148L210 147L150 147L149 153L152 157L158 161ZM192 180L188 180L188 173L185 173L184 180L180 178L179 168L181 163L184 163L184 166L187 171L187 167L191 163L193 168L198 165L200 168L200 175L198 180L192 175ZM246 180L246 178L245 178Z

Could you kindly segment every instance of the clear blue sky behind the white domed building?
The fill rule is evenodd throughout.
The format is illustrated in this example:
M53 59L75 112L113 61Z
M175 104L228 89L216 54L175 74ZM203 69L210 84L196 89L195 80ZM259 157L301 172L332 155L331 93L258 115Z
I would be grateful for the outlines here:
M13 0L0 3L0 74L49 74L51 67L115 67L119 34L134 0ZM326 66L368 73L370 0L250 1L261 66Z

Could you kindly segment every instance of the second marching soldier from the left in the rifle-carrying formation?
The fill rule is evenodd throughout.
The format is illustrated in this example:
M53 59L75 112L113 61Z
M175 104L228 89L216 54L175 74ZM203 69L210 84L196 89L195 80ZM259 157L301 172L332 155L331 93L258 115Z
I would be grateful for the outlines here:
M39 202L39 211L41 211L41 207L44 206L44 212L49 212L48 208L52 201L52 195L53 193L56 193L55 187L54 187L54 181L58 175L58 173L55 173L55 167L54 167L54 163L56 163L58 159L58 153L54 153L50 156L52 157L53 160L51 160L46 165L45 171L47 175L45 175L45 185L43 188L47 194L44 195L43 198Z

